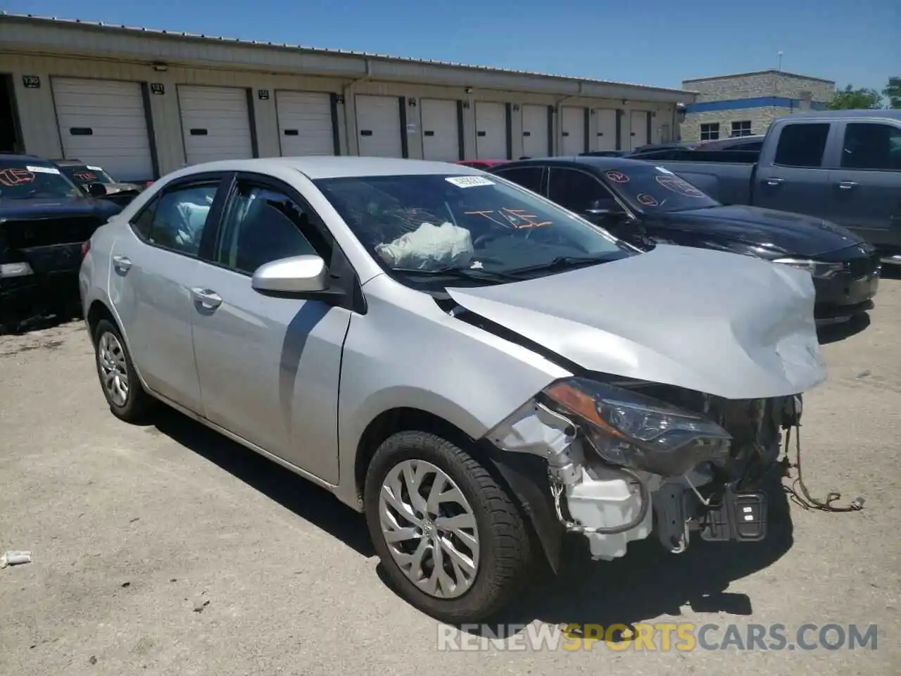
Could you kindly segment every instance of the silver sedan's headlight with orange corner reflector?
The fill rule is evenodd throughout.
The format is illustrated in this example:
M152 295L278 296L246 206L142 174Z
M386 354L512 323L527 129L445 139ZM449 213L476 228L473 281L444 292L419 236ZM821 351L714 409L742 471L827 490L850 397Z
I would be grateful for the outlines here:
M559 380L544 395L577 416L588 441L612 464L678 477L705 461L722 461L732 435L712 420L595 380Z

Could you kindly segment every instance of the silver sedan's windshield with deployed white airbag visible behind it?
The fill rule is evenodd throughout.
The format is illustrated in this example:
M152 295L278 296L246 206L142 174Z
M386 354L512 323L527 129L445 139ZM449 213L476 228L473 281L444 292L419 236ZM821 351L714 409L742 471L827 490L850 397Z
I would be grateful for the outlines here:
M526 279L635 252L496 177L378 176L315 184L379 264L416 286Z

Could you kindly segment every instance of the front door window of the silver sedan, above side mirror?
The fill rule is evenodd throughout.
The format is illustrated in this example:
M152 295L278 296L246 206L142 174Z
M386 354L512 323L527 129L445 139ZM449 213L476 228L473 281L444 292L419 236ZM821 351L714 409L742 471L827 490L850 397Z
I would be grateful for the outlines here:
M278 190L239 182L215 245L214 262L252 275L264 263L288 256L318 254L327 245L314 236L310 216Z

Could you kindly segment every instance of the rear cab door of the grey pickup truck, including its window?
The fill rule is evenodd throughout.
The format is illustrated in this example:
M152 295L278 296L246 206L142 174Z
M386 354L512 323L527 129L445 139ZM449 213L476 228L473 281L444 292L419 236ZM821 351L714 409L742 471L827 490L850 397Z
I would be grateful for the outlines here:
M754 206L832 219L829 169L824 159L831 134L837 132L838 125L829 122L781 124L775 130L778 135L764 144L760 156Z

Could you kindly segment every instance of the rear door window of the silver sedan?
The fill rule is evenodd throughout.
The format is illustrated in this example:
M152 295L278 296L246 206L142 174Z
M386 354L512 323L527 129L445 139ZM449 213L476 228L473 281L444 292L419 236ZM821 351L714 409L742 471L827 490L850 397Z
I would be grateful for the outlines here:
M151 244L196 256L218 185L165 189L134 221L135 230Z

